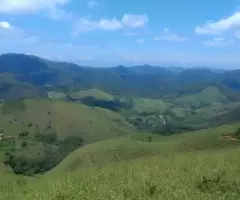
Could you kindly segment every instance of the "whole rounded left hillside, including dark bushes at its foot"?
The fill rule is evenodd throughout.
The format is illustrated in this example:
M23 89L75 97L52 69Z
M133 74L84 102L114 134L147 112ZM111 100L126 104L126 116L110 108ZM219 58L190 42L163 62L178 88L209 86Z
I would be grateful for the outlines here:
M0 104L1 162L16 174L41 174L85 144L130 134L110 110L79 103L29 99Z

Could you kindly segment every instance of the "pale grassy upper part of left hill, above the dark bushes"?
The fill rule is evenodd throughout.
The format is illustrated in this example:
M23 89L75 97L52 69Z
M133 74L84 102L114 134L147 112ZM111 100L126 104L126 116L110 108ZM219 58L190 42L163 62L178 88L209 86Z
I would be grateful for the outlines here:
M19 107L6 113L8 108L0 104L0 128L5 135L14 136L26 130L30 133L54 131L60 137L83 136L86 143L92 143L133 131L120 115L101 108L50 100L27 100L22 106L24 108Z

